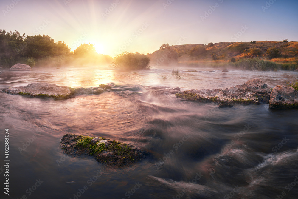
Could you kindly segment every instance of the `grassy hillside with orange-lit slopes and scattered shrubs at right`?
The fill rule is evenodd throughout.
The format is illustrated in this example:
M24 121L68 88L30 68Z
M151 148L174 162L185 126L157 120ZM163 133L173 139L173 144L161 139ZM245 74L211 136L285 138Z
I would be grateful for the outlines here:
M152 65L172 63L187 65L220 66L243 59L263 59L280 64L280 67L294 68L297 64L298 42L257 41L220 42L215 44L185 44L169 46L149 54ZM288 64L284 66L283 64ZM289 67L289 64L291 67ZM297 68L297 67L296 67Z

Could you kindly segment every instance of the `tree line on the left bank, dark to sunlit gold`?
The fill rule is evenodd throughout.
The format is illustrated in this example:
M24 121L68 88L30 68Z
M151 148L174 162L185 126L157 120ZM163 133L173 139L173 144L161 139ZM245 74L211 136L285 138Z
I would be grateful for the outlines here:
M94 44L81 44L71 51L63 41L56 42L48 35L25 36L18 31L6 32L0 29L0 66L10 67L26 58L42 59L60 56L73 58L98 56ZM110 58L108 55L106 58Z

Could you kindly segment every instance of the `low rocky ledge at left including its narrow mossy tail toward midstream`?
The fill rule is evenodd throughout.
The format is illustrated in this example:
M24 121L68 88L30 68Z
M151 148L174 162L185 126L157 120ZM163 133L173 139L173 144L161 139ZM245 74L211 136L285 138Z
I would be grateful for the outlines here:
M27 86L5 88L2 91L12 95L26 95L31 97L51 97L54 99L66 99L75 94L101 94L111 87L101 84L92 88L71 88L67 86L57 86L48 83L32 83Z

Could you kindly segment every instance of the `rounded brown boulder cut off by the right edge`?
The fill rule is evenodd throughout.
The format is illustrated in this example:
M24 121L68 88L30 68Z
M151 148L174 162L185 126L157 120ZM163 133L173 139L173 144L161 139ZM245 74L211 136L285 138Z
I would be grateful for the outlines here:
M271 92L269 108L298 108L298 91L277 85Z

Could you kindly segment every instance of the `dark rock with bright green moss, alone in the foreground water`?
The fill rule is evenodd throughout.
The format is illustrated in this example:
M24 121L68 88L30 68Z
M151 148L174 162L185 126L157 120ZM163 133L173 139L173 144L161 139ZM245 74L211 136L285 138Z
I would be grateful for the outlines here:
M101 137L66 134L61 139L64 152L68 155L92 155L98 162L111 166L129 166L146 158L146 152L137 147Z

